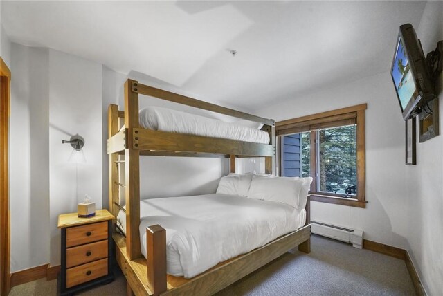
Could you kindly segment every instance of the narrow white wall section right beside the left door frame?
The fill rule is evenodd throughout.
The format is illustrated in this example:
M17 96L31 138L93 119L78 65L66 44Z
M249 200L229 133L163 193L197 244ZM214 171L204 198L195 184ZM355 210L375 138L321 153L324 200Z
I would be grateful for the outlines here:
M11 271L48 263L48 49L12 44Z

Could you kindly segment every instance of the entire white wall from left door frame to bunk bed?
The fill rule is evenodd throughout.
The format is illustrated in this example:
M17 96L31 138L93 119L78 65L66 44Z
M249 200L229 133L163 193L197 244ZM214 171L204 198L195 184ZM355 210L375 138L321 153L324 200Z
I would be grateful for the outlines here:
M11 271L60 263L57 216L89 194L102 207L102 66L12 44L10 125ZM68 163L79 133L87 164ZM51 174L50 174L51 172ZM76 193L78 191L78 193ZM76 197L78 196L78 198Z

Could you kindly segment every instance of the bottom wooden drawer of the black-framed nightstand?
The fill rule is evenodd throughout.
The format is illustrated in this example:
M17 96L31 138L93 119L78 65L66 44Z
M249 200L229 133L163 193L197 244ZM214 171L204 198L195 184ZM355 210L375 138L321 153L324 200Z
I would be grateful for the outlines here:
M103 277L108 274L108 259L101 259L66 270L66 288Z

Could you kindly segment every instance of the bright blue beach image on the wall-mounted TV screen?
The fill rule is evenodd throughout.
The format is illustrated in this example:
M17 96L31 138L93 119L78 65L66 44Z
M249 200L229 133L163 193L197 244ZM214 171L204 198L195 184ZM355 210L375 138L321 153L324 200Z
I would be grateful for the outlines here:
M401 38L397 46L397 53L395 53L395 62L392 66L392 79L399 95L401 111L404 111L411 98L415 98L417 94L417 87L410 71L408 56L406 55Z

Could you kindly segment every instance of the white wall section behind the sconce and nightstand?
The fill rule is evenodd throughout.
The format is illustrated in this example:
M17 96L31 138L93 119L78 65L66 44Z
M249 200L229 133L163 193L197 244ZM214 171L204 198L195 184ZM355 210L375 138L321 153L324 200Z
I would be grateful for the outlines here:
M84 138L87 163L68 162L75 134ZM57 216L76 212L84 194L102 207L102 65L49 50L49 172L51 265L60 263Z

